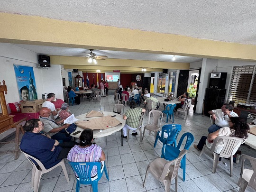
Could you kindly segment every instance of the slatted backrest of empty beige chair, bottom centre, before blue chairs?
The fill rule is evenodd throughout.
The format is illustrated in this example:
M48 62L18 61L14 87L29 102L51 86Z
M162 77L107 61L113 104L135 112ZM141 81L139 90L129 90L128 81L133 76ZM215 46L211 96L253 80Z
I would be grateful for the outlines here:
M159 180L161 180L161 181L165 180L165 177L166 177L166 174L167 174L167 172L168 172L169 167L170 167L170 166L174 166L173 172L172 172L172 173L171 173L171 172L169 173L169 174L172 174L171 180L173 180L173 179L176 177L176 175L178 174L178 170L179 170L179 166L180 166L181 160L182 160L183 156L184 156L186 153L187 153L187 150L186 150L186 149L183 149L183 150L180 152L179 156L178 156L176 159L174 159L174 160L172 160L172 161L168 161L168 162L165 164L163 174L160 176ZM174 164L174 165L173 165L173 164ZM169 175L168 175L168 176L169 176Z

